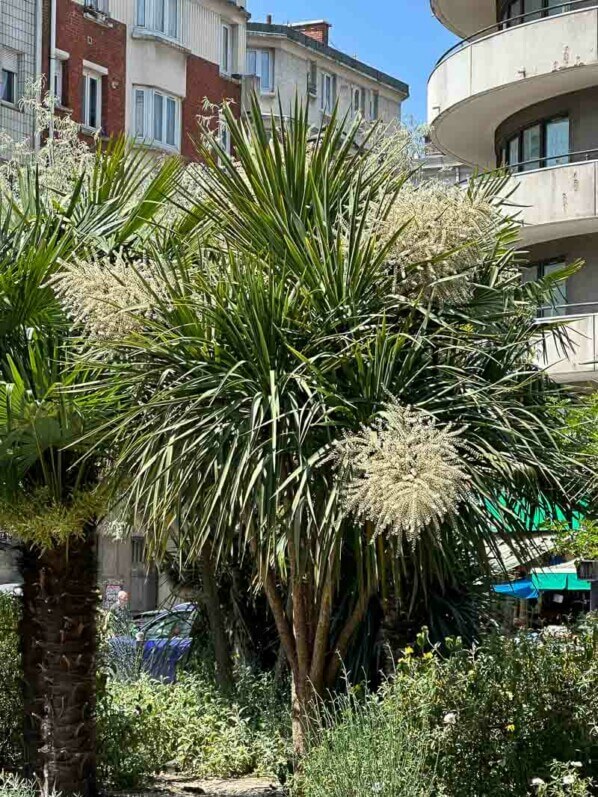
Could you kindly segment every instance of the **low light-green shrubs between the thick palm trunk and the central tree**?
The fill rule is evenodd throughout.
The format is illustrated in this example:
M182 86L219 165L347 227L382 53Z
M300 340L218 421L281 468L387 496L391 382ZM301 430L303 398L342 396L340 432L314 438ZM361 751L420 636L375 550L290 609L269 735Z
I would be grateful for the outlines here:
M269 676L241 670L232 700L200 674L109 681L98 707L100 777L131 788L167 764L198 776L283 777L290 722L276 694Z

